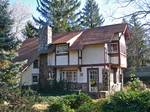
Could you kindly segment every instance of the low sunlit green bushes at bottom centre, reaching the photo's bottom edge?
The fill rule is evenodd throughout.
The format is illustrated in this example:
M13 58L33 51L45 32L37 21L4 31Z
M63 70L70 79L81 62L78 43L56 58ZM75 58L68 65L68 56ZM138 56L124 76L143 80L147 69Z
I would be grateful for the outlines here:
M62 100L49 106L49 112L76 112L85 103L91 103L92 99L81 93L64 96ZM53 110L53 111L52 111Z

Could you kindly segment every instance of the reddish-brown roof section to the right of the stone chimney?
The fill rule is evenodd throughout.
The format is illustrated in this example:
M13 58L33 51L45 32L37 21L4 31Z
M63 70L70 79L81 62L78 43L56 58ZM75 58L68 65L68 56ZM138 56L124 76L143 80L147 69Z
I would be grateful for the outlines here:
M84 45L110 42L115 33L126 32L127 24L114 24L101 26L93 29L86 29L76 32L69 32L59 35L53 39L53 44L66 43L74 36L82 33L76 41L70 46L70 49L82 49Z

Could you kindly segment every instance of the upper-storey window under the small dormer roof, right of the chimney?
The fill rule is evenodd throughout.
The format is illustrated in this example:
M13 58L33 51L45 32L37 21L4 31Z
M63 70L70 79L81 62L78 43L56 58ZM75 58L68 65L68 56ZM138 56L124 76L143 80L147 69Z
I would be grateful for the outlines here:
M68 44L60 44L56 46L56 54L68 53Z

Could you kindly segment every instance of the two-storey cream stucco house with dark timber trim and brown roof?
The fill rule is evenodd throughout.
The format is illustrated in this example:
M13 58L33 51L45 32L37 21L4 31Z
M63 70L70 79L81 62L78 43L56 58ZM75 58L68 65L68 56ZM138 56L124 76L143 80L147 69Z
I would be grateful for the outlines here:
M71 90L111 93L123 86L127 67L127 24L52 35L43 27L39 38L27 39L16 61L24 61L21 84L48 85L48 80L66 81Z

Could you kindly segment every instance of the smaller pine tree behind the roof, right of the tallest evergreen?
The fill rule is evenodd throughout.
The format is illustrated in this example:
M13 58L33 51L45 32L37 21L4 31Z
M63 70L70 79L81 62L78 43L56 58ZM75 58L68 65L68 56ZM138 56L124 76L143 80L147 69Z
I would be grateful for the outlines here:
M86 1L81 17L83 28L99 27L104 23L104 18L99 14L99 7L95 0Z

